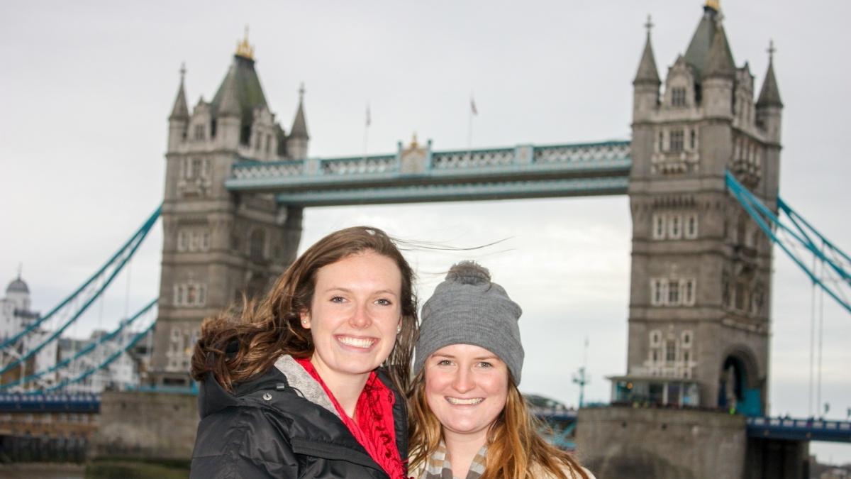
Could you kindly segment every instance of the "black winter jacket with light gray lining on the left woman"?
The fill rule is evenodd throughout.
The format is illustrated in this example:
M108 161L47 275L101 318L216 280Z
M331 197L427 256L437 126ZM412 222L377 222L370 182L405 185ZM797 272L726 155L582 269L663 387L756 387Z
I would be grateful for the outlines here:
M378 374L396 395L396 442L400 457L407 459L405 399L386 372ZM198 410L192 478L387 479L340 420L322 386L291 356L237 384L232 395L208 377L201 384Z

